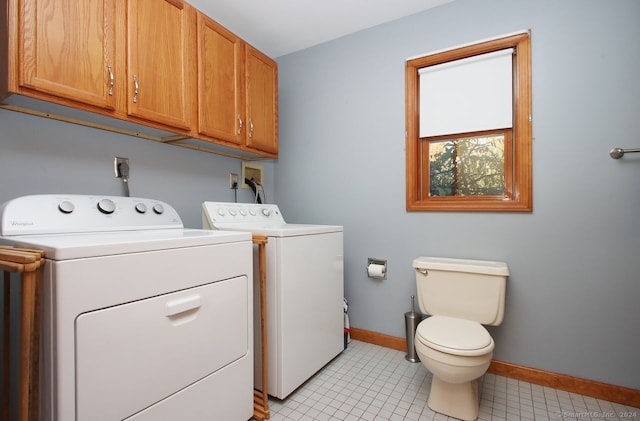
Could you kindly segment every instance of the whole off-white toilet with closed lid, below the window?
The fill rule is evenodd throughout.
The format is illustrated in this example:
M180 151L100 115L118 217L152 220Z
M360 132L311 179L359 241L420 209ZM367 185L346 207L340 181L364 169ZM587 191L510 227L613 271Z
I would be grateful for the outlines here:
M502 323L509 268L506 263L419 257L420 310L415 347L433 374L427 404L462 420L478 417L478 382L489 368L494 342L482 325Z

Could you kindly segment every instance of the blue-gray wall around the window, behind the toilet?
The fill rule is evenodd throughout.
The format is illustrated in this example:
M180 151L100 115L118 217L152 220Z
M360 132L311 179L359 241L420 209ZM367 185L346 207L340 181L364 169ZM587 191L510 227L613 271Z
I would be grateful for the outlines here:
M521 29L533 212L407 213L405 60ZM276 199L290 222L344 225L352 325L404 337L415 257L501 260L494 358L640 389L640 156L608 156L640 147L639 40L637 0L458 0L280 57Z

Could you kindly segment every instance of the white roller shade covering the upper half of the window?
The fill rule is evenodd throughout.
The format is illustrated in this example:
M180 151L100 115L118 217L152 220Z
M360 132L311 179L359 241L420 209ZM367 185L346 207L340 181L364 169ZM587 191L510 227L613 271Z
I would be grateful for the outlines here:
M420 69L420 137L512 127L513 48Z

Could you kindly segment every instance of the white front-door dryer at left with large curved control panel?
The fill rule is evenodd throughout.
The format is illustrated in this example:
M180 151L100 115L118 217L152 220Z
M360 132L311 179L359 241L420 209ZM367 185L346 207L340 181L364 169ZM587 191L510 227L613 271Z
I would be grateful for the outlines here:
M43 249L41 419L253 415L249 233L184 229L166 203L36 195L0 242Z

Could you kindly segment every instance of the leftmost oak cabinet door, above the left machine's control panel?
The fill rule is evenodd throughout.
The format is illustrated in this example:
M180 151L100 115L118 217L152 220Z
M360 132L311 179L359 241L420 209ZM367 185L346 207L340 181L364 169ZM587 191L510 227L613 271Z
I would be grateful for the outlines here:
M20 86L114 109L115 0L20 4Z

